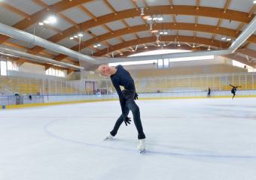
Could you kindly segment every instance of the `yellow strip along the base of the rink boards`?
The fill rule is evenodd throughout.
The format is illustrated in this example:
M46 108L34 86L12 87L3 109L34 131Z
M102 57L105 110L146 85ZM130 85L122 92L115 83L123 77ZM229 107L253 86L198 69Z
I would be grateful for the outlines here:
M232 98L233 96L215 96L212 98ZM166 100L166 99L206 99L207 97L175 97L175 98L139 98L139 100ZM256 98L256 95L239 95L235 98ZM136 101L139 101L136 100ZM118 99L97 99L97 100L86 100L86 101L66 101L66 102L54 102L54 103L41 103L41 104L19 104L19 105L5 105L0 106L0 109L11 109L11 108L22 108L22 107L40 107L40 106L51 106L61 104L81 104L81 103L92 103L102 101L118 101Z

